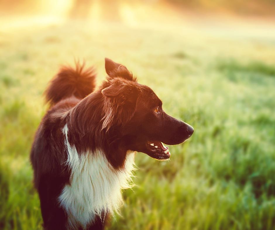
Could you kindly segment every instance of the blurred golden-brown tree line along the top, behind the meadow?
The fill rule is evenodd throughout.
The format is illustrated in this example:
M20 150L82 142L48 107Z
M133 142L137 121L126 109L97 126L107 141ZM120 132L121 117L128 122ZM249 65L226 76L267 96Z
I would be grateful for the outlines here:
M56 2L58 2L57 0ZM73 1L73 2L72 2ZM59 4L72 4L69 16L87 18L93 2L96 0L62 0ZM237 14L271 15L274 16L275 0L97 0L104 6L104 18L117 20L116 12L119 4L158 4L169 2L182 8L199 11L228 11ZM0 16L8 14L35 13L47 0L0 0ZM51 1L54 7L55 1ZM42 4L41 4L42 3Z

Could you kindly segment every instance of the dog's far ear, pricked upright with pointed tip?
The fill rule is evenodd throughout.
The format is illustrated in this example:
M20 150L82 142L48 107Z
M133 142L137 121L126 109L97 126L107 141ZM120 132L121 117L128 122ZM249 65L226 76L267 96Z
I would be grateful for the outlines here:
M108 80L114 79L116 77L121 77L129 81L137 82L137 79L133 76L124 65L116 63L109 58L105 57L105 70L108 74Z

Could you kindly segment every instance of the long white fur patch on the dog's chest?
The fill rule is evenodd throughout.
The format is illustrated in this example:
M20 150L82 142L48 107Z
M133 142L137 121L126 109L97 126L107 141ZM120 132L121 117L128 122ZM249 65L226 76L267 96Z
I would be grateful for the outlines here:
M135 153L127 153L125 168L115 170L100 151L84 153L80 156L68 142L68 126L65 145L68 150L67 164L72 170L70 185L66 185L59 196L59 201L69 214L69 228L79 223L85 228L93 221L96 214L113 214L123 204L121 189L132 187L130 184L134 170Z

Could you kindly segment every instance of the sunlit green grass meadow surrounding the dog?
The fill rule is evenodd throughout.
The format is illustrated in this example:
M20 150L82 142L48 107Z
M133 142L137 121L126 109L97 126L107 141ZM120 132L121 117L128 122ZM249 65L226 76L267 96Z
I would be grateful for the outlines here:
M168 162L137 154L136 186L108 229L275 229L274 41L108 23L0 36L0 229L42 229L29 162L42 93L74 58L94 65L100 82L104 57L195 128Z

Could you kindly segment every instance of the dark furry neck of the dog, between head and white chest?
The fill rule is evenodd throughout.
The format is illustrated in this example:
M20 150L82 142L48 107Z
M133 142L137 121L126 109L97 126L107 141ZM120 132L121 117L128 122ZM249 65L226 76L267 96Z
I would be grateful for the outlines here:
M121 136L121 126L114 123L109 130L102 130L105 113L103 107L99 106L101 100L102 94L94 92L64 116L64 123L69 130L66 138L71 146L75 146L78 154L93 154L100 150L113 168L123 169L129 146Z

